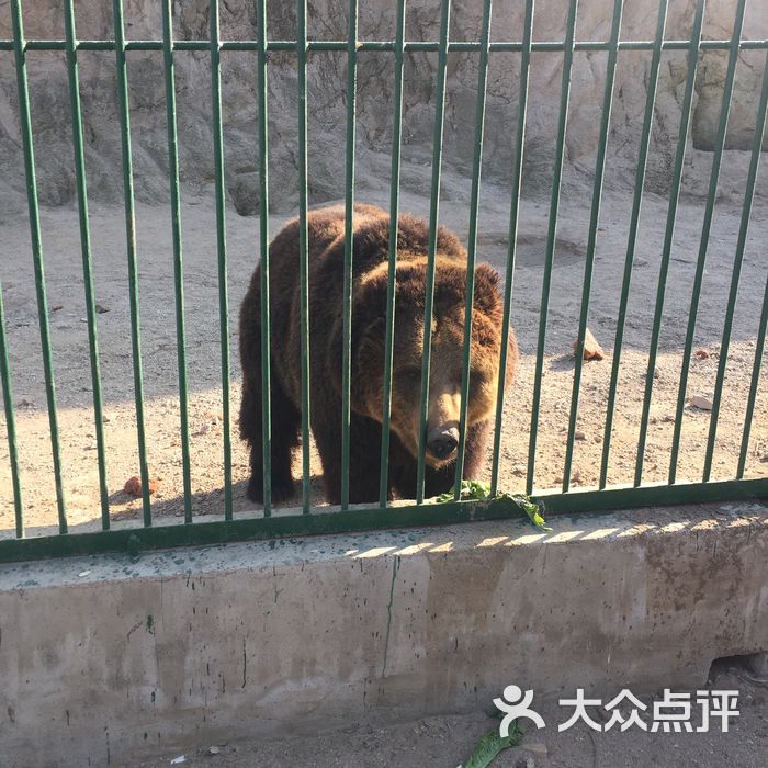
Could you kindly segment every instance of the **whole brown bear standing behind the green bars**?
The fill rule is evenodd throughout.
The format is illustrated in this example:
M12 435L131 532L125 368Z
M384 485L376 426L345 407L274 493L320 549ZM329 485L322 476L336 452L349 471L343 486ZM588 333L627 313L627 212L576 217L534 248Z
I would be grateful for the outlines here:
M351 337L349 500L379 498L382 440L384 338L389 255L389 216L372 205L354 206ZM309 251L310 426L320 454L325 495L341 495L341 362L345 210L307 214ZM420 381L429 228L410 215L398 221L394 365L388 495L414 498L420 423ZM294 495L292 450L301 432L301 330L298 221L270 245L272 386L272 499ZM488 264L475 270L470 402L464 476L476 477L485 459L495 411L501 345L499 275ZM466 251L444 228L437 238L432 355L427 422L425 493L453 486L462 377ZM260 269L240 309L242 405L240 436L250 443L247 495L262 500ZM518 346L510 332L505 386L513 377Z

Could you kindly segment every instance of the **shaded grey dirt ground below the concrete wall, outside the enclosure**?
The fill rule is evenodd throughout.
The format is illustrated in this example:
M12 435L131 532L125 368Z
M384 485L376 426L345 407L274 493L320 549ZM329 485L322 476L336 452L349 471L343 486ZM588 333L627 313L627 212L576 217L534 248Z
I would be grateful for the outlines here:
M764 768L768 755L768 680L741 667L724 666L710 675L718 690L738 690L739 715L727 733L651 733L632 727L595 732L583 722L558 733L573 708L556 702L537 708L546 723L532 729L519 747L501 753L494 768ZM692 692L692 691L691 691ZM568 693L563 698L572 698ZM659 697L660 698L660 697ZM641 697L650 704L652 699ZM603 699L607 701L607 699ZM534 699L535 702L535 699ZM601 710L591 710L590 714ZM696 705L694 705L694 710ZM693 725L698 724L698 713ZM596 716L599 722L599 718ZM190 768L455 768L465 765L481 736L498 727L482 712L428 718L389 727L351 725L318 736L212 744L194 753L167 755L129 768L163 768L183 757Z

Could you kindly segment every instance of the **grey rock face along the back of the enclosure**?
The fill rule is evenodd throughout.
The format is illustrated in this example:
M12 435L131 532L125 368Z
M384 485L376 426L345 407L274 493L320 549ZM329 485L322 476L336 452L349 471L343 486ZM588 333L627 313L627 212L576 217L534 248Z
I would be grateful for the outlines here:
M482 2L454 2L451 38L478 39ZM704 36L727 38L733 26L735 0L709 3ZM611 0L583 2L577 37L606 39L610 32ZM693 0L670 3L667 38L690 33ZM256 37L256 3L228 0L222 3L222 37ZM537 3L534 38L558 41L564 36L566 3ZM652 39L656 0L625 3L622 38ZM111 3L78 3L81 39L113 37ZM179 39L205 39L208 33L207 0L174 2L174 35ZM347 34L346 0L316 0L309 4L309 36L343 39ZM161 36L159 4L149 0L125 3L129 39ZM11 37L8 5L0 14L0 38ZM60 3L39 0L26 3L25 33L30 39L63 38ZM492 36L495 41L520 39L523 8L515 0L494 3ZM294 39L294 3L268 3L270 39ZM439 36L438 0L408 3L406 36L410 41L436 41ZM360 38L391 39L395 30L395 3L361 3ZM752 3L744 36L768 37L768 5ZM737 79L726 138L729 160L723 163L721 192L737 193L748 162L746 151L755 129L755 112L765 64L765 52L739 54ZM358 184L387 188L392 143L394 67L391 53L362 53L358 71ZM477 54L449 57L443 162L444 194L468 195L475 144L474 114ZM632 183L647 84L648 52L621 54L617 71L606 184ZM607 55L577 53L574 61L568 113L564 177L568 184L594 173L601 113ZM705 191L711 149L720 116L726 52L704 52L700 57L684 190ZM34 124L39 199L44 205L70 203L75 196L71 123L67 74L63 53L27 55ZM103 203L122 199L121 142L116 102L114 54L82 52L81 97L87 143L89 192ZM293 53L269 57L270 195L276 211L297 204L297 72ZM665 194L679 126L679 108L686 78L686 53L664 55L655 111L647 189ZM211 125L210 56L204 52L176 54L176 86L182 191L188 196L210 193L213 183L213 133ZM534 54L531 67L527 124L523 194L544 194L552 178L562 54ZM159 52L128 55L132 132L136 195L156 203L168 199L168 157L162 56ZM488 100L484 146L484 179L508 183L516 151L515 121L518 103L519 54L495 53L488 72ZM408 53L405 64L403 126L403 184L428 193L432 156L437 55ZM257 70L253 53L223 54L223 115L227 197L242 215L258 212L259 167L257 142ZM313 204L343 195L345 135L347 114L347 61L343 53L312 53L308 67L309 197ZM768 139L766 144L768 146ZM0 52L0 207L21 211L25 181L18 120L18 92L13 55ZM574 187L575 189L575 187ZM758 189L765 194L765 182Z

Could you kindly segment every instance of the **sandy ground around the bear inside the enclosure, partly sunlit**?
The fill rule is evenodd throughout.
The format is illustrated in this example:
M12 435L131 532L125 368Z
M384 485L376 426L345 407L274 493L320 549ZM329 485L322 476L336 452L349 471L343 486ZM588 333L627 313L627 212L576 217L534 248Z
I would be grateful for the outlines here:
M360 193L358 200L386 205L386 190ZM404 211L426 215L427 204L422 196L403 194ZM606 349L608 358L584 366L578 422L583 439L576 442L574 487L594 485L598 478L630 204L631 200L624 192L607 190L603 194L589 327ZM583 191L564 191L539 419L537 488L550 488L562 481L574 370L571 348L578 328L588 205L589 195ZM634 473L666 211L667 203L663 199L648 196L644 202L611 443L609 482L612 484L631 482ZM517 384L505 408L501 440L500 486L508 490L520 490L526 483L547 214L546 201L522 202L512 321L523 358ZM694 346L696 350L703 350L707 357L694 357L691 362L689 396L707 396L713 392L739 215L741 201L723 202L715 212ZM702 216L703 205L700 201L681 202L654 380L644 481L666 479L668 472L671 421ZM271 219L271 234L276 233L284 218L275 216ZM507 255L508 219L508 192L494 188L484 190L478 257L500 271L504 271ZM468 210L465 203L445 200L441 204L440 221L461 237L466 237ZM44 210L42 222L64 488L69 520L77 530L78 526L92 527L100 515L77 213L69 208ZM110 509L115 520L133 519L140 517L140 500L134 500L122 492L125 481L138 474L122 208L93 208L91 222L97 301L105 309L98 316L98 328L106 415L104 433ZM221 512L223 508L218 291L215 212L211 200L188 200L182 211L182 224L193 511L195 515L206 515ZM182 509L181 437L169 210L165 206L139 207L137 233L148 452L150 473L159 481L159 490L153 497L154 513L179 516ZM258 233L257 218L228 213L233 425L239 407L237 308L257 260ZM765 258L767 237L768 207L765 201L758 200L753 212L734 318L714 455L714 478L730 478L735 473L757 324L768 274ZM0 217L2 287L16 405L25 522L27 534L34 534L52 530L57 518L29 240L24 218L2 221ZM767 377L768 370L764 365L752 428L748 477L768 476ZM686 408L679 479L701 477L709 423L709 413ZM233 445L235 509L241 511L249 508L245 498L247 452L235 430ZM300 458L296 459L298 465ZM320 466L314 451L312 467L315 500L319 504ZM12 534L12 527L13 500L3 419L0 420L0 530L3 531L0 535Z

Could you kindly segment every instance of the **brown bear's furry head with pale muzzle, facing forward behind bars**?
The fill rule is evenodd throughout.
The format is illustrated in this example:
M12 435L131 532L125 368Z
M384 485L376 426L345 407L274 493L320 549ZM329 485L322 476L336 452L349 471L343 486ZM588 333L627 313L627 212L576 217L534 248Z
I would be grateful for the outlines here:
M382 420L384 398L387 276L387 263L379 264L368 272L355 285L352 305L351 407L376 421ZM489 419L496 407L504 312L498 284L499 275L489 264L476 267L467 427ZM398 263L391 427L414 456L418 455L420 432L426 286L426 257L411 256ZM466 268L453 258L438 255L426 436L426 460L433 467L454 460L456 455L464 361L465 296ZM334 343L338 343L340 351L340 324L334 334ZM517 361L517 345L512 332L509 345L506 385L511 383ZM331 375L340 389L340 372L332 372Z

